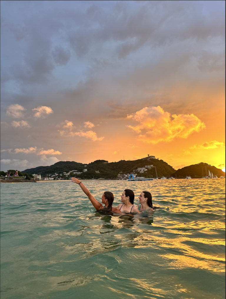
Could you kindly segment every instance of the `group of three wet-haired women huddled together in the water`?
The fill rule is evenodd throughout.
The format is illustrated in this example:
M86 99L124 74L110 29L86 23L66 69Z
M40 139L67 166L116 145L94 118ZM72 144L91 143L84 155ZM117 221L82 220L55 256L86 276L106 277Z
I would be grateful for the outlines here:
M134 203L134 192L130 189L125 189L121 195L121 202L117 208L112 207L114 201L114 195L112 192L105 191L101 198L101 203L98 202L95 197L89 192L89 190L85 187L85 185L77 178L71 177L70 178L73 183L80 185L81 189L88 196L89 200L91 201L94 208L100 213L135 213L135 212L142 212L144 210L154 210L152 206L152 195L148 191L141 192L139 196L140 205L138 208L133 204ZM103 206L104 205L104 206Z

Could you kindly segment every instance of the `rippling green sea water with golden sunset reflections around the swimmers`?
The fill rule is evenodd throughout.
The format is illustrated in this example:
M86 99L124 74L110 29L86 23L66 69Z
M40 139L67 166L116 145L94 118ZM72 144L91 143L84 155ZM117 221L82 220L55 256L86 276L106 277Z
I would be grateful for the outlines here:
M1 184L1 299L225 298L225 179L84 184L161 209L121 219L71 181Z

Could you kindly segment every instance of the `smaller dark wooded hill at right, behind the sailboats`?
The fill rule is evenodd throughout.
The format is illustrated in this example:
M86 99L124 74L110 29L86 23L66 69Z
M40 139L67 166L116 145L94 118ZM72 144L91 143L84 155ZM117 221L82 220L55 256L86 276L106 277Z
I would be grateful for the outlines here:
M210 166L207 163L198 163L190 166L186 166L178 169L171 175L177 178L184 178L186 176L191 176L192 178L202 178L202 176L208 175L208 172L213 173L214 176L225 176L225 172L215 166ZM203 175L202 175L203 174Z

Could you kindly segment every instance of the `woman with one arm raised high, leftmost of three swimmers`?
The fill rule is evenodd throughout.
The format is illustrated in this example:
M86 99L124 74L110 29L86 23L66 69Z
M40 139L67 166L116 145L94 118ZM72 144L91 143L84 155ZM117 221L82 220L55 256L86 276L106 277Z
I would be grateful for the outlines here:
M121 211L118 208L112 207L112 204L114 201L114 194L112 192L105 191L101 198L102 203L100 203L94 198L94 196L89 192L89 190L85 187L85 185L79 179L76 179L76 178L70 178L70 179L71 179L71 181L73 181L73 183L80 185L83 192L85 193L85 195L88 196L92 205L98 212L100 212L100 213L109 213L109 212L121 213ZM105 205L105 208L103 207L103 204Z

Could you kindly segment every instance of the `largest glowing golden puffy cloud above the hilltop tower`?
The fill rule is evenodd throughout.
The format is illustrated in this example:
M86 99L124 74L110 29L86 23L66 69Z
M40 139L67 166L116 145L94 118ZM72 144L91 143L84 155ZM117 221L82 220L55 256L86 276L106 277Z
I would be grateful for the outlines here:
M140 123L137 126L128 126L136 133L142 133L138 139L153 144L160 141L172 141L177 137L187 138L193 132L199 132L206 127L193 114L173 114L171 116L160 106L144 107L131 115L127 115L127 118Z

